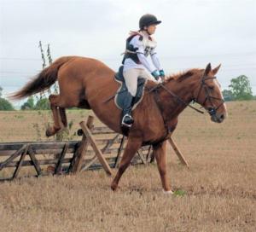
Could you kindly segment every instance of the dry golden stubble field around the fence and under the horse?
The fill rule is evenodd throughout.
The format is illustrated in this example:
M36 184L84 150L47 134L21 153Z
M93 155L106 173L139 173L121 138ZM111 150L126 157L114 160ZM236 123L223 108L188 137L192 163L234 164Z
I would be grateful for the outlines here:
M256 231L256 102L228 102L229 118L185 110L168 149L175 194L161 193L156 165L130 167L119 190L103 171L0 183L0 231ZM75 132L89 111L67 111ZM1 112L0 142L46 141L49 112ZM99 122L97 122L99 124Z

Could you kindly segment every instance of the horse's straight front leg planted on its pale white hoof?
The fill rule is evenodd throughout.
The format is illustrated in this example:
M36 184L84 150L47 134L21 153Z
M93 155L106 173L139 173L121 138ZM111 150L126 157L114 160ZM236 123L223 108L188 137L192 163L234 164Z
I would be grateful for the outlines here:
M160 178L163 186L163 191L166 194L172 194L172 189L168 182L166 173L166 141L153 146L154 156L157 162Z

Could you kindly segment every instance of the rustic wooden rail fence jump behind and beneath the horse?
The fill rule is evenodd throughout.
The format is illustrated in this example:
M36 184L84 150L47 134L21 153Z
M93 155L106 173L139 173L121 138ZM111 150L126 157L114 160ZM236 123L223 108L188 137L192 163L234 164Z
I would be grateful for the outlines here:
M80 142L0 143L0 181L16 177L78 173L99 168L112 175L112 168L119 165L126 138L108 127L95 127L93 120L89 116L86 123L80 123ZM171 137L169 142L182 164L188 165ZM145 146L131 160L131 165L147 165L153 160L151 146Z

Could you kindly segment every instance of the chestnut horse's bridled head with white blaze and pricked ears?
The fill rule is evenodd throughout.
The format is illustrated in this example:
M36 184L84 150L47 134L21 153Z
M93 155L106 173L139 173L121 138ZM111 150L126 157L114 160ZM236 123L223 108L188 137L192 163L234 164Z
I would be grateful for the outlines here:
M201 104L211 115L211 119L215 123L221 123L227 117L227 108L220 89L220 84L215 77L218 73L220 65L212 69L211 64L203 71L203 75L199 72L196 88L193 93L194 101ZM199 81L198 81L199 80Z

